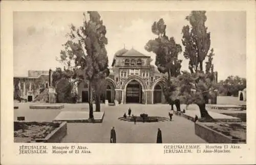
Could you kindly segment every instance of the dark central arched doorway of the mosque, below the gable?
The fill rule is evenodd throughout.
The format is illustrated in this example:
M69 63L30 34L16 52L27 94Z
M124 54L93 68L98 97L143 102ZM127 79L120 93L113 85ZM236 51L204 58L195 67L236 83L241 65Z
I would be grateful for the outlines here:
M126 86L126 103L142 103L142 87L136 80Z

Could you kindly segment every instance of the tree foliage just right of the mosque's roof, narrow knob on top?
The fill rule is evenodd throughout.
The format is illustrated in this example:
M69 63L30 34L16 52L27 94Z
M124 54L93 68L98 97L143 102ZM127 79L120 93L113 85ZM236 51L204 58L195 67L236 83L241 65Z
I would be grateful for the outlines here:
M180 74L181 62L178 55L182 52L180 44L175 42L174 37L166 36L166 25L161 18L152 25L152 33L157 35L154 40L149 40L144 46L148 52L156 54L156 66L160 73L167 73L170 77L177 77Z

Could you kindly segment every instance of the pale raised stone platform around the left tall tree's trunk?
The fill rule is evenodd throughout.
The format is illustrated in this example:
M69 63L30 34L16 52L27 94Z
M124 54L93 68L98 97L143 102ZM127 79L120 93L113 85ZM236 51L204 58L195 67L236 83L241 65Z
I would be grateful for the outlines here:
M104 112L93 112L96 123L102 123ZM60 112L54 122L67 121L68 123L88 123L89 111L62 111Z

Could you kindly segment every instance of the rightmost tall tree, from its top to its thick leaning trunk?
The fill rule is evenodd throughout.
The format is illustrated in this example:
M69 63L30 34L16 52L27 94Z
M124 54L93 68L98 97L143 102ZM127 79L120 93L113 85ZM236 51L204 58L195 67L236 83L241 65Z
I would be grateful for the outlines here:
M184 26L182 29L182 44L185 47L184 57L189 59L189 75L180 77L181 80L189 79L186 83L190 85L184 86L186 93L190 96L189 102L196 103L201 112L201 117L212 120L208 114L205 104L208 99L212 97L213 90L216 88L214 84L214 68L212 65L212 56L214 50L212 49L208 55L208 62L206 62L206 70L203 70L203 61L207 57L210 48L210 33L207 32L205 26L206 11L192 11L185 18L189 21L190 26ZM189 90L195 90L190 92ZM181 90L182 93L182 90Z

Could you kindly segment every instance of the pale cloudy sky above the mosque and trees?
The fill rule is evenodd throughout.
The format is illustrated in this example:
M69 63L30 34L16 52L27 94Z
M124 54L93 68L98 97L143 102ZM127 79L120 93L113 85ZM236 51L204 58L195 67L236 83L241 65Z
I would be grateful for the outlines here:
M151 56L155 64L155 54L144 50L148 40L157 36L151 31L154 21L163 18L166 35L174 37L181 44L183 26L189 25L185 17L190 11L148 11L148 12L99 12L106 26L109 66L114 54L123 49L132 49ZM214 49L214 68L218 80L228 76L246 77L246 12L206 11L205 22L210 32ZM87 17L88 18L88 17ZM14 12L13 53L14 76L27 76L28 70L48 70L63 67L57 60L65 36L70 32L71 23L82 25L82 12ZM183 47L183 45L182 45ZM184 50L184 47L183 47ZM183 53L181 70L188 70L188 60Z

